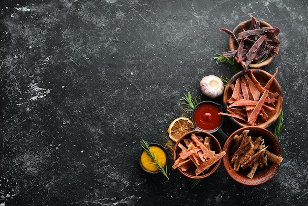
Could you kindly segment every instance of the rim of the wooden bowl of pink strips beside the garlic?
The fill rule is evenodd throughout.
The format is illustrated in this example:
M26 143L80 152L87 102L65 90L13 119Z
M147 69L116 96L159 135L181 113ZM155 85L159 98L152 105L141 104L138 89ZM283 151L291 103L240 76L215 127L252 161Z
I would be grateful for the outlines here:
M263 70L263 69L249 69L249 71L251 71L251 72L257 72L257 73L263 73L263 74L265 74L265 75L267 75L267 76L270 76L270 77L273 76L272 74L270 74L269 72L267 72L267 71L265 71L265 70ZM244 70L242 70L242 71L240 71L240 72L234 74L234 75L229 79L228 83L226 84L226 86L225 86L225 88L224 88L224 91L223 91L223 109L224 109L224 111L226 111L227 104L228 104L227 101L226 101L226 99L227 99L227 92L228 92L228 90L230 89L230 85L231 85L233 82L235 82L236 79L238 79L240 76L244 75L245 73L246 73L246 72L245 72ZM282 110L283 96L282 96L281 86L280 86L280 84L279 84L279 82L277 81L276 78L274 79L274 82L273 82L272 84L277 84L277 86L278 86L278 91L277 91L277 92L278 92L278 94L279 94L279 96L280 96L279 99L281 100L280 106L279 106L278 108L276 108L277 111L276 111L275 115L272 117L271 121L266 121L266 122L263 122L263 123L261 123L261 124L255 125L255 126L262 127L262 128L267 128L267 127L271 126L271 125L277 120L277 118L279 117L279 114L280 114L280 112L281 112L281 110ZM229 118L231 119L231 121L232 121L234 124L236 124L236 125L239 126L239 127L249 127L248 124L239 122L239 121L237 121L234 117L230 117L230 116L229 116Z

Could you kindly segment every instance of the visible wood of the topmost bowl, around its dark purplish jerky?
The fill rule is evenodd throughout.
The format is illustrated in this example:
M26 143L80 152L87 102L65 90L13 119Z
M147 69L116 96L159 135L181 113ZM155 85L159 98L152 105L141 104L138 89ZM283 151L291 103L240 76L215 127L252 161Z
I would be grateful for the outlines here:
M236 26L233 30L233 34L235 34L235 36L237 36L238 33L242 32L243 29L248 30L249 26L250 26L251 20L246 20L242 23L240 23L238 26ZM260 21L260 27L271 27L271 25L265 21ZM277 35L273 34L276 38ZM237 42L234 41L234 39L230 36L229 38L229 49L230 51L234 51L237 50L239 48L239 45ZM277 52L279 51L279 46L277 48ZM237 61L238 58L234 57L234 59ZM274 58L269 55L268 58L266 58L263 62L259 63L259 64L250 64L249 68L250 69L258 69L264 66L267 66L269 64L271 64L273 62Z

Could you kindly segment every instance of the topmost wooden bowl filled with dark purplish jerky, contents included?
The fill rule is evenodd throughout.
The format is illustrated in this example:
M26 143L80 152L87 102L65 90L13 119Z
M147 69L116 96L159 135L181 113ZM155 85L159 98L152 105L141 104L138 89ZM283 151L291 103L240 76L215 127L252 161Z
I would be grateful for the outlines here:
M271 64L277 57L280 46L277 36L280 33L279 28L257 20L251 14L249 16L250 20L241 22L233 31L220 29L230 35L230 51L223 52L223 56L234 58L244 70Z

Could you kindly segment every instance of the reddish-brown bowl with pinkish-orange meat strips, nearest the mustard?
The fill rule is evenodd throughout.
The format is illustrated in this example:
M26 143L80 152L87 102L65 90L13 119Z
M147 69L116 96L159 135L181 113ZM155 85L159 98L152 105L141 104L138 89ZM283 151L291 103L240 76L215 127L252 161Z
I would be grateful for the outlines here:
M172 168L190 179L203 179L216 172L224 155L216 137L193 130L176 142Z

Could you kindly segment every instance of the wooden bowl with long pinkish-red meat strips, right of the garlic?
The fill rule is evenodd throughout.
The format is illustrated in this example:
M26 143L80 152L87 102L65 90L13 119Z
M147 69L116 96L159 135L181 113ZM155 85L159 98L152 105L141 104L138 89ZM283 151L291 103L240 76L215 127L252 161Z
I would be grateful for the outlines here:
M230 78L223 94L224 112L239 127L267 128L282 110L282 91L276 79L262 69L240 71Z

